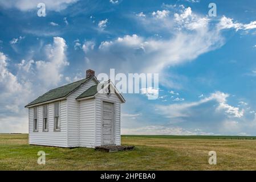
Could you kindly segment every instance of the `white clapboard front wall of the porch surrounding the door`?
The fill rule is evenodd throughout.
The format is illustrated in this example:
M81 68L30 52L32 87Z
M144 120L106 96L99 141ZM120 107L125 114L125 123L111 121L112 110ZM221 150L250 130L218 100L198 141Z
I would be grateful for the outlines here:
M101 137L101 111L102 111L102 101L109 101L109 102L115 102L115 144L120 145L121 144L121 138L120 138L120 98L116 94L111 94L109 97L106 96L106 94L97 94L95 98L95 109L96 109L96 138L95 138L95 145L101 146L102 137Z

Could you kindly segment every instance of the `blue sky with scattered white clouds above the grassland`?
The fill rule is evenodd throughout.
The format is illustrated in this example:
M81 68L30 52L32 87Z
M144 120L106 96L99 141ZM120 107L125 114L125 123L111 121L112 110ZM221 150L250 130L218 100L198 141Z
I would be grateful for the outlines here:
M159 99L124 94L123 134L256 135L256 2L0 0L0 133L24 106L97 73L159 73ZM208 15L209 3L217 16Z

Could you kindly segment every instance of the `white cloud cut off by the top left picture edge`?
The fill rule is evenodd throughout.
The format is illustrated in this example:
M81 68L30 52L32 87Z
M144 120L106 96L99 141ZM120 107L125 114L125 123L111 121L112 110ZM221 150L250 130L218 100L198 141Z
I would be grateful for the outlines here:
M67 6L78 2L78 0L44 0L43 3L46 5L46 10L51 11L60 11L67 8ZM38 3L42 3L41 0L12 0L12 1L5 1L0 0L0 6L11 9L16 8L21 11L29 11L29 10L38 10L37 5Z

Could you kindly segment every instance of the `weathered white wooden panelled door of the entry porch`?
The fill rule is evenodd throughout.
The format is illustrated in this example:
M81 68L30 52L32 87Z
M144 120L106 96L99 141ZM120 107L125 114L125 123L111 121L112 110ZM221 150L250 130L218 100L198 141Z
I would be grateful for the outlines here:
M103 122L102 122L103 145L114 144L113 115L114 115L113 104L109 102L103 102Z

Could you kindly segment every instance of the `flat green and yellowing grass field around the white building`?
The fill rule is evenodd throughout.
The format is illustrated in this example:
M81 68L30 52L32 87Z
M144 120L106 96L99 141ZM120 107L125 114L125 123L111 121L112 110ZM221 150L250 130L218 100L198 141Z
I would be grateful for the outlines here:
M254 137L123 135L121 142L135 150L30 146L27 134L0 134L0 170L256 170ZM46 165L37 164L41 150ZM217 165L208 164L212 150Z

